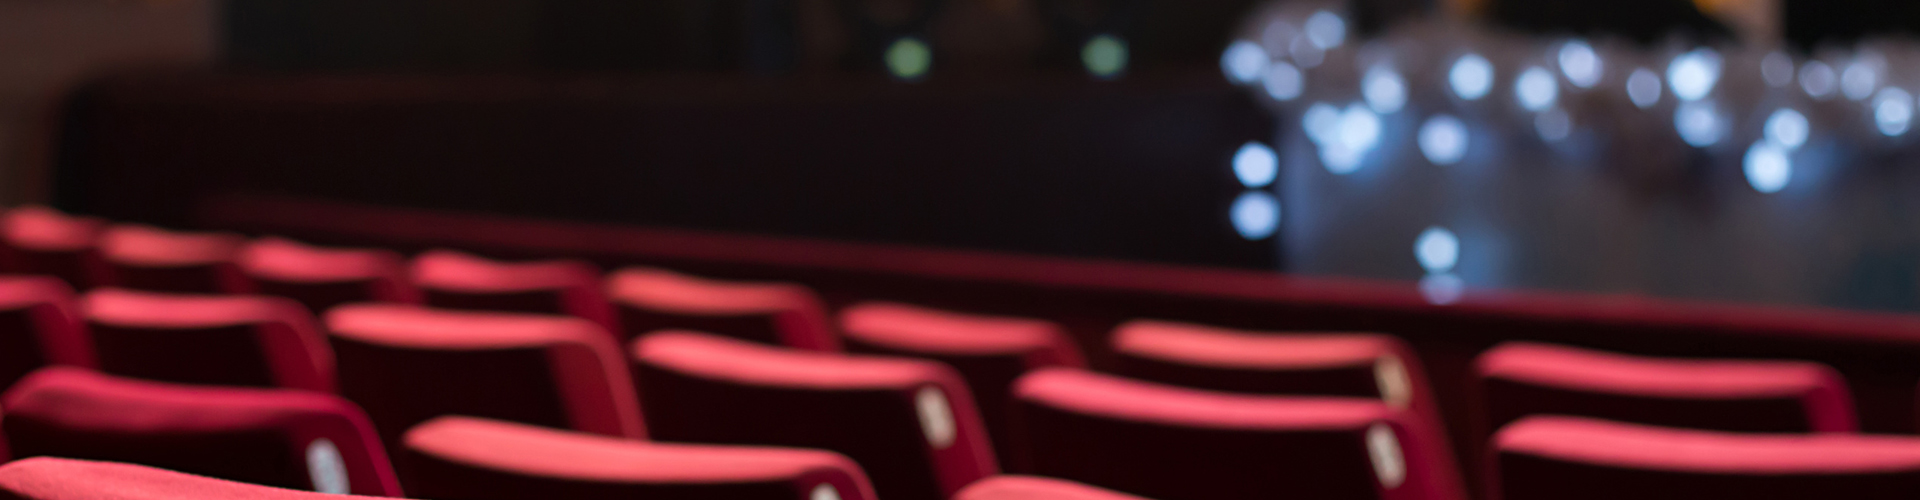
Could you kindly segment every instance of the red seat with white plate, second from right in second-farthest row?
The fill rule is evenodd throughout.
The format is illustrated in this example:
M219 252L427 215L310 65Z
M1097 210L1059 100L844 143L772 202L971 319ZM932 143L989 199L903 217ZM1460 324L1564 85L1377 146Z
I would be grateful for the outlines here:
M1463 498L1436 431L1373 398L1213 392L1062 367L1014 390L1016 473L1160 500Z

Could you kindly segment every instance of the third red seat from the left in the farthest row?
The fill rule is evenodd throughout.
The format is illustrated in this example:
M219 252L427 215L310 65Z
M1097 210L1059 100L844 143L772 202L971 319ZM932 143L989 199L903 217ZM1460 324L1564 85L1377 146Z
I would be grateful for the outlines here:
M405 260L394 250L261 238L240 250L240 269L261 294L300 300L315 313L348 302L420 302Z

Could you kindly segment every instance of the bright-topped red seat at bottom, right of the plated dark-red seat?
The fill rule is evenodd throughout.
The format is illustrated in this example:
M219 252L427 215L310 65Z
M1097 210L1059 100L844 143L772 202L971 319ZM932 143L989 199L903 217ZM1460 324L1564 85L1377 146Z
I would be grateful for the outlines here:
M611 438L474 417L407 431L407 488L461 500L872 500L835 452Z

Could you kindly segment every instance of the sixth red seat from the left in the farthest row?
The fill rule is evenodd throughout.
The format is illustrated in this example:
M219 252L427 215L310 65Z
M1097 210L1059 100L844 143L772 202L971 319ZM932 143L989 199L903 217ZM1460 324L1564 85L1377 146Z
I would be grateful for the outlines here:
M987 421L1004 463L1014 379L1039 367L1085 367L1073 338L1050 321L972 315L891 302L862 302L841 312L847 350L943 362L960 371Z

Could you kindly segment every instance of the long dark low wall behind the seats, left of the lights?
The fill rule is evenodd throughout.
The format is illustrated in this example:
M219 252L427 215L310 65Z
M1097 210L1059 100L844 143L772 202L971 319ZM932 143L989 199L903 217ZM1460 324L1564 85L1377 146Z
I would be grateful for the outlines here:
M1212 69L1094 83L123 77L83 90L60 206L186 223L273 192L582 221L1275 269L1227 219L1271 117Z

